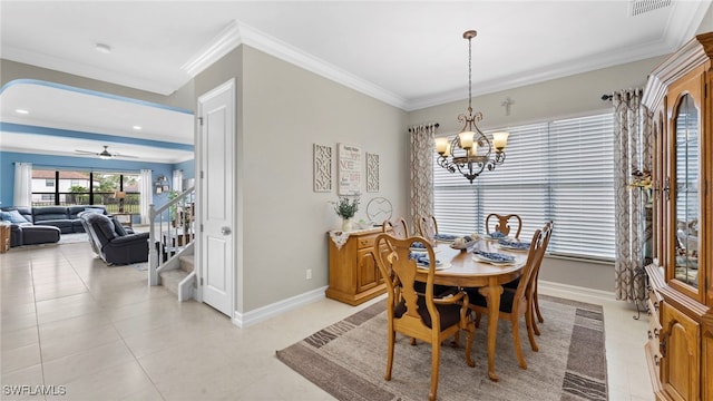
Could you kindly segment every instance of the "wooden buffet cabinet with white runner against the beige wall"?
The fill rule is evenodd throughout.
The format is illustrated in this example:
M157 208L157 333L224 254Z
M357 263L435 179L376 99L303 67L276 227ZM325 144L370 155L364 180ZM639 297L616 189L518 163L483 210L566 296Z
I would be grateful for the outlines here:
M387 292L373 255L374 239L382 228L351 232L341 247L330 243L330 286L326 296L359 305Z

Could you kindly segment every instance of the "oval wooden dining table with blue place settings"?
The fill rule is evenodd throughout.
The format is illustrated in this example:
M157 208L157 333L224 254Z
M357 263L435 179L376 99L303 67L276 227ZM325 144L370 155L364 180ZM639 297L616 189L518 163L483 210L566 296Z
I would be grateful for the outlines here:
M512 263L492 264L484 262L475 256L473 251L500 253L515 257ZM488 375L490 380L498 381L495 372L495 346L498 333L498 315L500 310L500 294L502 284L518 278L527 262L528 248L514 251L504 248L498 241L481 238L475 244L457 250L449 243L437 242L433 246L436 265L433 284L450 285L457 287L478 287L488 304ZM417 268L416 280L426 282L428 268Z

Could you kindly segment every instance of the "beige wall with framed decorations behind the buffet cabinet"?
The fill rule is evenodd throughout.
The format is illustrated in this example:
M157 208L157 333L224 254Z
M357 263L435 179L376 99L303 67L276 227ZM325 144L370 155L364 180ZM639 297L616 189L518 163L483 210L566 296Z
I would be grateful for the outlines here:
M330 204L335 189L313 192L313 144L335 150L346 143L381 156L381 190L367 193L362 180L356 219L367 219L364 208L375 196L390 199L395 215L407 212L407 114L246 46L196 77L196 95L229 77L238 79L242 94L236 294L237 312L245 313L329 284L326 232L340 221ZM335 185L335 157L333 164Z

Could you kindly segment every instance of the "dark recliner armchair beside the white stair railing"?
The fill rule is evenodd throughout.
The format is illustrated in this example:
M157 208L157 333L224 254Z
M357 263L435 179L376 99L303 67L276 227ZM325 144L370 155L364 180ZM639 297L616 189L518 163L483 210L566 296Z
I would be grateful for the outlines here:
M109 265L148 261L148 233L127 233L115 218L85 212L79 219L89 235L94 252Z

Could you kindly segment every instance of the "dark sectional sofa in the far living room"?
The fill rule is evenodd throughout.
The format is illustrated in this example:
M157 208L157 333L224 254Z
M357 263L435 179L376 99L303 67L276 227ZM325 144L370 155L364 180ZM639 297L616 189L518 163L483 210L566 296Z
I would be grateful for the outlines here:
M0 219L10 222L10 246L56 243L61 234L84 233L78 214L105 214L104 205L0 207Z

